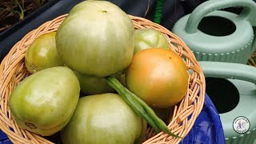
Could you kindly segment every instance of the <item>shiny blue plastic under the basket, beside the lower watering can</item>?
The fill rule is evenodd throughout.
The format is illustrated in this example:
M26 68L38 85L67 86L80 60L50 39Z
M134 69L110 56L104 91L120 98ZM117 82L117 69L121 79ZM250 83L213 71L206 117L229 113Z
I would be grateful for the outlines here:
M220 116L207 94L194 126L180 144L225 144Z

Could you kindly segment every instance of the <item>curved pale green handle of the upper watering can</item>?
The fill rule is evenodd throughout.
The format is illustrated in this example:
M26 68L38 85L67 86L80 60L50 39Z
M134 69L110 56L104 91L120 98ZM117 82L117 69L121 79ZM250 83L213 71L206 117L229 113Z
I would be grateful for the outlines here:
M209 0L196 7L186 22L186 33L194 34L198 30L198 24L202 18L214 10L221 10L229 7L243 7L238 19L249 21L256 26L256 2L253 0Z

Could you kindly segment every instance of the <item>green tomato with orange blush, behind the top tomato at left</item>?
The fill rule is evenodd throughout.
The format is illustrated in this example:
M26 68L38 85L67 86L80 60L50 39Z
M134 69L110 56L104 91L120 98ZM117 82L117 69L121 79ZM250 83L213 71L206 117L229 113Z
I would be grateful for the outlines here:
M40 35L26 50L26 69L34 74L54 66L64 66L55 46L55 32Z

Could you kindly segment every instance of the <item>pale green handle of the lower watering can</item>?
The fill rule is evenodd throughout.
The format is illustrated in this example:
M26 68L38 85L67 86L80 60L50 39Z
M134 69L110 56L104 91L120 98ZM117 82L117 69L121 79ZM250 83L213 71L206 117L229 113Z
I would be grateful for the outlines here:
M256 84L256 67L240 63L200 61L205 77L231 78Z

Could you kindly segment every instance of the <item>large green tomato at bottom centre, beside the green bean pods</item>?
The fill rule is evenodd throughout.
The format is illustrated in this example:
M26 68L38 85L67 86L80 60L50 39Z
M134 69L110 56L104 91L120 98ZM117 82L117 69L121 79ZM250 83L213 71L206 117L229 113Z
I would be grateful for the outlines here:
M146 121L118 94L107 93L80 98L61 138L64 144L133 144L145 134Z

